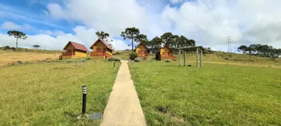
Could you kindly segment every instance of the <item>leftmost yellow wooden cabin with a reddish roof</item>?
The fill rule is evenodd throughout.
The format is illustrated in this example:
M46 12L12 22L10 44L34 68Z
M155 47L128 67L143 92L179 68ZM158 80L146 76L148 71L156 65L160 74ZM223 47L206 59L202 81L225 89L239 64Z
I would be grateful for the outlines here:
M80 57L86 58L87 52L89 52L85 45L75 43L73 41L69 41L63 50L66 50L66 52L63 52L59 59L77 59Z

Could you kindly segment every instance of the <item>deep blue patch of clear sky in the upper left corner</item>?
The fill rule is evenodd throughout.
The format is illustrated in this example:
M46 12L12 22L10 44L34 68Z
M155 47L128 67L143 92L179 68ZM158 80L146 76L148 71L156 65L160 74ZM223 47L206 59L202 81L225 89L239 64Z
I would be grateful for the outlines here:
M48 1L54 2L54 1ZM1 0L0 10L4 12L4 16L0 18L0 23L6 21L14 22L17 25L32 25L34 30L22 29L26 34L38 34L37 29L42 30L62 30L66 33L73 34L72 27L81 25L78 22L67 22L67 20L53 20L46 15L46 5L39 0ZM55 3L61 3L55 1ZM6 15L6 16L5 16ZM1 33L6 32L1 30Z

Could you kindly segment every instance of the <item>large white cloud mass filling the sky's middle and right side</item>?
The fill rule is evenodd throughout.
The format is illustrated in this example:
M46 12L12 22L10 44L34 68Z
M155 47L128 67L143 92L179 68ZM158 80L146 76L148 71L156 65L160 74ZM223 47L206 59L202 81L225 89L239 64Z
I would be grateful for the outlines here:
M83 41L85 45L91 45L96 39L96 31L106 31L113 37L120 36L126 27L137 27L150 39L171 31L173 34L195 39L197 45L216 50L228 50L225 41L228 34L233 36L233 50L237 50L235 47L239 45L252 43L281 48L281 8L279 8L281 1L216 0L206 2L209 8L203 0L169 0L164 3L154 0L65 0L60 5L49 3L48 12L44 13L50 19L79 22L85 26L75 27L73 29L75 34L71 34L72 36L67 36L59 30L41 31L41 34L56 36L56 40L63 36L69 39L74 37L77 41ZM173 5L165 5L167 3ZM178 4L181 6L174 7ZM207 26L204 22L207 22ZM112 45L118 46L117 48L129 48L126 43L119 43L118 40L112 42Z

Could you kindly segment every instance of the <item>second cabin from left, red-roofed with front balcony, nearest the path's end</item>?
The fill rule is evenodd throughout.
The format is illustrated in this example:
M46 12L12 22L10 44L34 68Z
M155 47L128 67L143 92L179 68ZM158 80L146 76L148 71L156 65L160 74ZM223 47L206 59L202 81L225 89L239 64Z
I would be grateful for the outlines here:
M91 59L108 59L112 57L113 49L105 43L105 41L98 38L98 40L91 45L91 48L93 52L90 53Z

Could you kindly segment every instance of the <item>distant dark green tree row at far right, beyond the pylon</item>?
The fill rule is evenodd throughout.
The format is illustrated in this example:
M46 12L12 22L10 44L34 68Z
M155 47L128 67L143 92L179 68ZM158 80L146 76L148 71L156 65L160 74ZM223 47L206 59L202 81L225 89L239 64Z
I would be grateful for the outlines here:
M271 45L261 44L240 45L237 51L250 56L256 55L261 57L279 57L281 55L281 48L273 48Z

